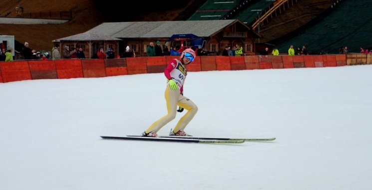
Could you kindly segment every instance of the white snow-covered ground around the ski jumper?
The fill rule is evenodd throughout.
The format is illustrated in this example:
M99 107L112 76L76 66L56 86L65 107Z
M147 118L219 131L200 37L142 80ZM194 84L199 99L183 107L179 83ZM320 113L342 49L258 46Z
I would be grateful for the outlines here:
M0 83L0 189L372 189L372 65L189 72L186 132L104 140L166 114L163 73ZM178 119L164 126L168 134Z

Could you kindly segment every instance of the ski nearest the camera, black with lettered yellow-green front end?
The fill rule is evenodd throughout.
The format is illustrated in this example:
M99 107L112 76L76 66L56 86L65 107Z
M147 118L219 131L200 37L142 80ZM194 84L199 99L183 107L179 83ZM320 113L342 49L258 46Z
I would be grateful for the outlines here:
M117 140L147 140L147 141L215 143L215 144L243 143L244 142L244 139L218 140L218 139L193 139L193 138L146 137L146 136L101 136L101 138L117 139Z

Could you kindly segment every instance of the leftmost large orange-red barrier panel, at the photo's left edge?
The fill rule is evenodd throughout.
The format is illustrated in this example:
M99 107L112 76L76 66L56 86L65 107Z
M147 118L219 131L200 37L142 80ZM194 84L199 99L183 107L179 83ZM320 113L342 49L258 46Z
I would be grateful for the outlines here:
M0 62L0 68L3 82L31 79L27 61Z

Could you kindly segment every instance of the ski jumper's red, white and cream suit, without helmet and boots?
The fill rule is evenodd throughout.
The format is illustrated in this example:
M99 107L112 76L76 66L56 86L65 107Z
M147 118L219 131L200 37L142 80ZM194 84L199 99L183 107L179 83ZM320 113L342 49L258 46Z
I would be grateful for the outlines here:
M180 129L184 129L190 120L194 117L198 111L198 107L189 98L183 96L183 84L187 75L187 70L185 65L181 63L178 59L172 59L168 64L167 68L164 70L164 74L167 79L173 79L178 88L172 90L167 82L167 87L165 88L164 96L167 104L168 113L161 117L159 120L155 121L145 132L149 133L151 131L157 132L165 124L176 118L177 105L183 107L187 110L187 113L181 117L173 131L177 132Z

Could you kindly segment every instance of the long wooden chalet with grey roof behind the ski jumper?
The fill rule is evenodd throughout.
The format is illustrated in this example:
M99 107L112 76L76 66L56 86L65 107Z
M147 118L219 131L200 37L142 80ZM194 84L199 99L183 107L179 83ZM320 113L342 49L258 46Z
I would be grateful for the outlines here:
M150 42L160 41L168 46L168 38L173 34L192 33L206 40L203 48L210 52L221 53L225 46L239 44L243 51L255 54L255 39L260 35L240 20L187 20L187 21L138 21L138 22L104 22L87 32L104 34L120 38L119 53L127 45L137 56L147 56L146 49ZM63 38L61 38L63 39Z

